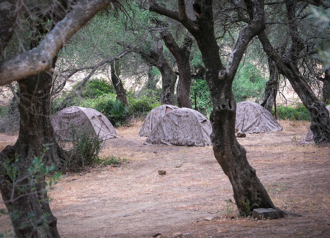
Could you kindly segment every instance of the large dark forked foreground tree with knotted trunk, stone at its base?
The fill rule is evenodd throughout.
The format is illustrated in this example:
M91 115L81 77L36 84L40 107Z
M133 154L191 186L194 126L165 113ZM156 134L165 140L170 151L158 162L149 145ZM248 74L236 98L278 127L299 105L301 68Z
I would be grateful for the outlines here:
M184 0L179 0L179 13L161 7L154 0L149 0L149 4L150 11L181 22L197 41L213 102L210 116L213 128L211 134L213 151L232 184L234 199L240 213L247 212L246 205L253 203L258 204L260 208L276 208L256 176L255 169L249 165L246 150L236 140L236 102L232 92L232 82L248 43L265 28L264 1L253 1L252 23L244 26L240 31L226 67L220 60L219 45L215 39L211 0L194 2L193 8L197 17L195 21L187 17Z

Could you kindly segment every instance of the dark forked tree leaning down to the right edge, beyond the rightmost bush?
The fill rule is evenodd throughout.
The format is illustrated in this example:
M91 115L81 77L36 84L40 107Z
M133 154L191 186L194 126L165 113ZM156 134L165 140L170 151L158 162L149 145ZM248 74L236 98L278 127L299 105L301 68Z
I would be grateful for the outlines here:
M277 64L280 74L284 75L290 82L292 88L298 94L311 115L310 128L314 135L314 142L330 142L330 118L325 104L321 102L307 84L306 80L299 71L297 59L303 50L303 43L295 20L294 2L285 0L288 20L288 32L291 36L290 49L286 51L285 57L278 54L270 43L266 33L263 31L258 38L263 46L263 50Z

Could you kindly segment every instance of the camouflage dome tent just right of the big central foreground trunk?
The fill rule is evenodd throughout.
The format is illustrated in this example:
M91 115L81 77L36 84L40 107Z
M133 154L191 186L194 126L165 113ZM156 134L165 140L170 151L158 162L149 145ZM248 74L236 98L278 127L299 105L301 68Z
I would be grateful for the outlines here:
M254 102L239 102L236 105L236 128L246 133L272 133L283 127L261 105Z

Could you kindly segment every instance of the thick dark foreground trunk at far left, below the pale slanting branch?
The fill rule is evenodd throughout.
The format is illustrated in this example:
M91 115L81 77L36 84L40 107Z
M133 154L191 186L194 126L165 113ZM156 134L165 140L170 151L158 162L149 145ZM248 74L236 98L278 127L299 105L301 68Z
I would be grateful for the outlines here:
M20 171L15 186L6 173L0 177L2 199L9 211L17 237L59 237L56 218L49 208L45 176L40 175L38 178L40 182L35 185L35 192L27 191L27 194L22 196L19 189L29 184L31 177L28 167L32 165L35 157L42 158L45 165L54 164L59 169L66 155L53 137L53 128L49 120L51 85L52 76L46 72L19 81L18 139L14 146L8 145L0 153L1 162L10 162ZM46 148L48 150L44 153ZM15 158L18 159L17 162ZM16 214L17 211L19 216Z

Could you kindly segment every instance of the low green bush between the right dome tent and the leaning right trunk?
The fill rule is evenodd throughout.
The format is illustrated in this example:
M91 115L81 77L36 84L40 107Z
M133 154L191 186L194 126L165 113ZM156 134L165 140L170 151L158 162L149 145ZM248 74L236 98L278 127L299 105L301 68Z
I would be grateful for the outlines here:
M275 111L272 114L274 115ZM288 119L288 120L307 120L311 121L311 116L307 108L303 104L288 105L288 106L277 106L276 107L277 119Z

